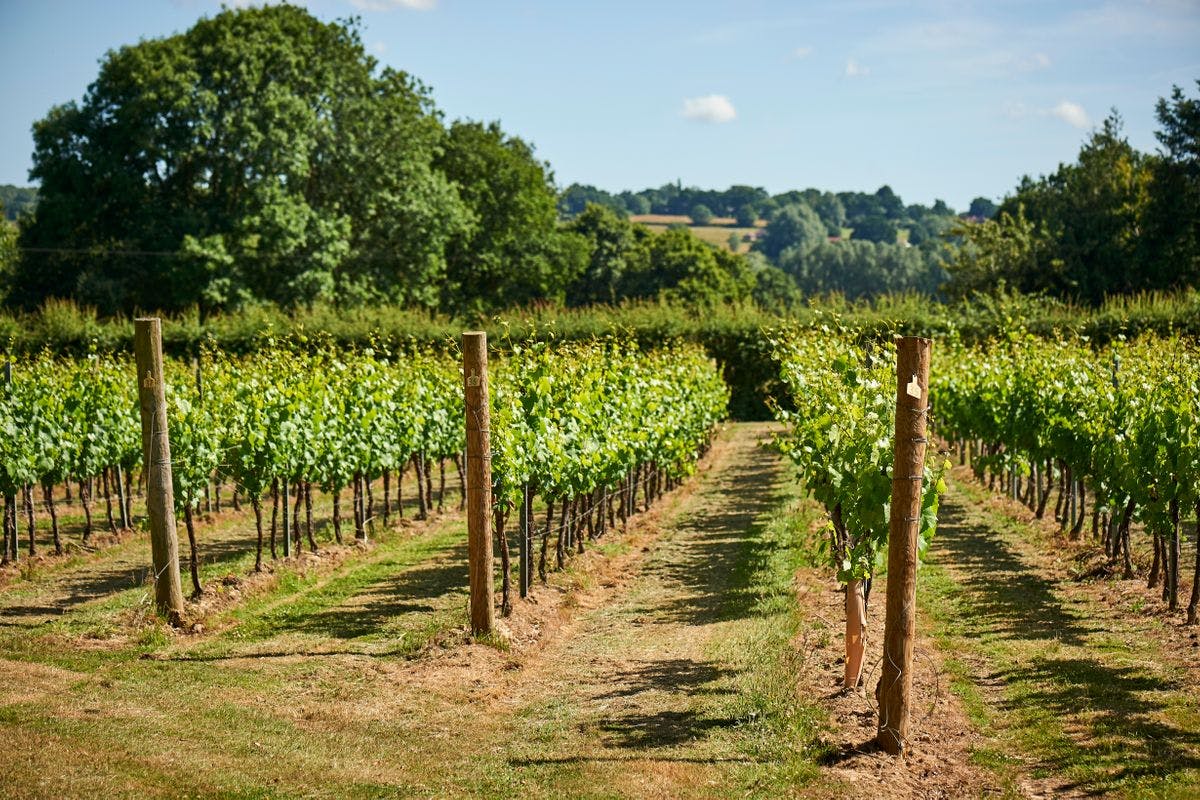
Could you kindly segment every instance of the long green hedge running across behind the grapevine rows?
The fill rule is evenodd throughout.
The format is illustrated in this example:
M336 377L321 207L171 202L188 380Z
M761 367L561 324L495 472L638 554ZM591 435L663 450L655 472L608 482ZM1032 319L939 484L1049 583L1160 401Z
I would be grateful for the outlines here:
M763 331L784 324L812 330L845 326L877 338L901 333L967 343L1004 338L1021 326L1037 336L1079 335L1099 345L1140 333L1200 337L1200 293L1114 297L1098 308L1009 294L974 295L953 303L929 302L916 294L858 302L829 296L806 299L786 315L748 302L703 311L652 301L588 308L536 306L498 315L323 303L289 312L259 305L204 319L194 308L169 317L163 325L163 347L180 357L198 355L205 344L250 354L270 347L272 338L287 336L312 348L332 344L400 353L414 343L449 347L469 329L486 330L499 347L506 341L584 341L624 331L644 348L673 341L703 345L730 384L730 413L737 419L768 419L767 398L784 395L778 386L779 365ZM0 314L0 361L19 361L42 350L85 355L127 353L132 347L130 318L103 318L70 301L50 301L29 313Z

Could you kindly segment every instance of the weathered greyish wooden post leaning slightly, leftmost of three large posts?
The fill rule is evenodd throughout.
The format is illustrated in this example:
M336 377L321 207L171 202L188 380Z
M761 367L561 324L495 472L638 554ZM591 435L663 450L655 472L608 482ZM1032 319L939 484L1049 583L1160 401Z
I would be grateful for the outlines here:
M167 437L167 392L162 377L162 323L157 318L133 320L133 354L138 398L142 404L142 463L146 479L146 516L154 561L155 604L173 625L184 612L179 579L179 540L175 533L175 495L170 477L170 441Z

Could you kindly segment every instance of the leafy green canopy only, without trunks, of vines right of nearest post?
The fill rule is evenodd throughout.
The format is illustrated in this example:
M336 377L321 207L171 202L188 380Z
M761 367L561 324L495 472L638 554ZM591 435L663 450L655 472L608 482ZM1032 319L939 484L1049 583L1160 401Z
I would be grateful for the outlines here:
M1133 503L1148 529L1174 535L1169 507L1200 487L1200 351L1177 337L1043 341L1013 332L985 348L953 347L931 395L948 439L992 447L978 464L1028 474L1048 461L1086 479L1120 517Z

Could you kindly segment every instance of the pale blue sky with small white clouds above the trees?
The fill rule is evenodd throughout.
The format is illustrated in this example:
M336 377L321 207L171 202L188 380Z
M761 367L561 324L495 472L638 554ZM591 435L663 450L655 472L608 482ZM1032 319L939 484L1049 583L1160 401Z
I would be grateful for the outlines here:
M230 4L246 5L246 4ZM875 191L965 210L1072 162L1116 108L1200 79L1200 0L312 0L358 17L382 65L446 120L499 120L559 186L682 181ZM80 100L109 49L182 32L208 0L0 0L0 184L30 127Z

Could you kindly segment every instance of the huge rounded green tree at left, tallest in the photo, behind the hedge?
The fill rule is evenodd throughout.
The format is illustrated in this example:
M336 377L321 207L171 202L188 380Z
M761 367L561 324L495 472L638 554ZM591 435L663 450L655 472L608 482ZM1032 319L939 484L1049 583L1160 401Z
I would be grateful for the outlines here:
M432 167L428 92L354 23L226 10L109 52L35 125L37 210L14 300L102 311L265 300L433 305L467 215ZM85 257L76 253L85 251Z

